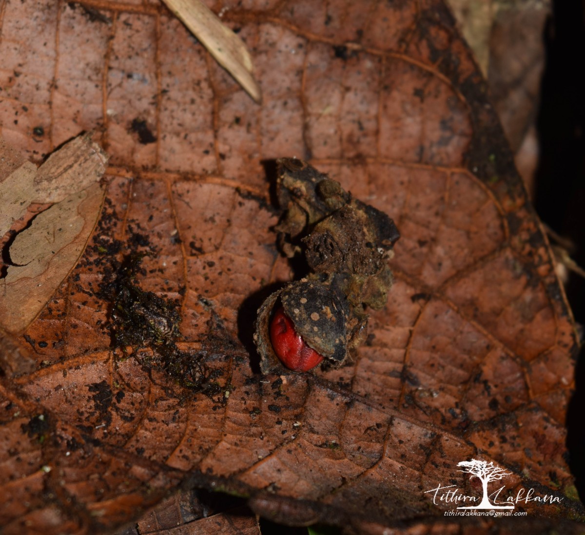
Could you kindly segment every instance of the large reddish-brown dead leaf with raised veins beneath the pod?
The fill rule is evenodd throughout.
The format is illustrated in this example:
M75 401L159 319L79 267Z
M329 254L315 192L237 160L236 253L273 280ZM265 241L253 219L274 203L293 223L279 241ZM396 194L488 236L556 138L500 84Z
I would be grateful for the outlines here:
M582 517L572 318L442 2L210 6L241 29L262 106L154 0L2 4L2 135L38 158L99 127L113 166L91 246L11 340L37 366L0 378L5 532L111 531L179 484L286 523L432 525L452 505L426 490L478 493L456 468L472 457L511 471L514 495L563 498L518 505L530 516ZM339 370L256 372L256 308L293 277L262 164L280 156L310 159L402 234L388 304ZM157 251L142 288L180 302L178 346L223 371L229 396L111 350L97 292L137 234Z

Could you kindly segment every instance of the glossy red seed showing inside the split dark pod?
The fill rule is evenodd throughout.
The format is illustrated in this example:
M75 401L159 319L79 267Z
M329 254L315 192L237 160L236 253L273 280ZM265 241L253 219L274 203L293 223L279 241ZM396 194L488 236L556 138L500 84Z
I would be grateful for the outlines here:
M307 346L292 325L284 310L279 308L270 324L270 341L277 357L289 370L309 371L321 363L323 357Z

